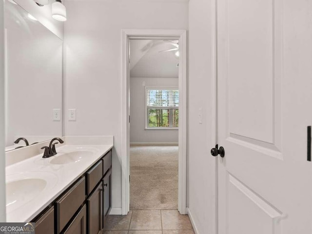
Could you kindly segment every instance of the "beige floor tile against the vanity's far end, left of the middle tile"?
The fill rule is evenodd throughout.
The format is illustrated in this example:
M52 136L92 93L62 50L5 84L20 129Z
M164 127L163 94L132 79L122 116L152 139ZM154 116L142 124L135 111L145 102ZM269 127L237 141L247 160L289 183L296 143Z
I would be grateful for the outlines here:
M132 211L128 215L108 215L104 230L129 230L131 215Z

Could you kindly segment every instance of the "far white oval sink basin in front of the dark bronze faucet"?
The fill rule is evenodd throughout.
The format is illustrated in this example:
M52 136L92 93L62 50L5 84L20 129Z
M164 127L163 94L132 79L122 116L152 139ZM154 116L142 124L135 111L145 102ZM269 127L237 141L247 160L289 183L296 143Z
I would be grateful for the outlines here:
M84 158L92 156L94 153L90 151L74 151L70 153L64 153L53 158L51 164L69 164L82 161Z

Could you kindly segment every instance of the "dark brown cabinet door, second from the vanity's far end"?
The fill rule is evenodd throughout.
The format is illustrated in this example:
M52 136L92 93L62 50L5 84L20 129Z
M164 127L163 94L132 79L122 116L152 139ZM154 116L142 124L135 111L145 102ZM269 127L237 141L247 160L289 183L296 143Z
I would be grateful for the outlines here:
M101 182L93 194L87 199L88 234L102 232L103 220L103 183Z

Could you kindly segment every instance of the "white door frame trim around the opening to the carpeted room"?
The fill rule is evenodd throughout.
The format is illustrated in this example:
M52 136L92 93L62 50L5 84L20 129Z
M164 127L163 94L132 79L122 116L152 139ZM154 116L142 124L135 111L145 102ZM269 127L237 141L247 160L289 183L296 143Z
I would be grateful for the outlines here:
M179 132L178 132L178 211L185 215L187 168L187 33L186 30L122 29L121 30L121 212L130 211L130 135L128 77L130 39L178 39L179 40Z

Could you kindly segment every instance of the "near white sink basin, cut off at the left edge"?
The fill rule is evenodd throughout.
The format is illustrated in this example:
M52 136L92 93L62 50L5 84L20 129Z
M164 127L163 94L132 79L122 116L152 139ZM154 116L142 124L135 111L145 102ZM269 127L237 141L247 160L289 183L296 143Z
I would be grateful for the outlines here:
M6 183L7 210L14 210L36 198L46 185L47 182L39 178L26 178Z

